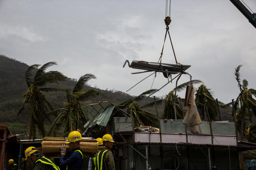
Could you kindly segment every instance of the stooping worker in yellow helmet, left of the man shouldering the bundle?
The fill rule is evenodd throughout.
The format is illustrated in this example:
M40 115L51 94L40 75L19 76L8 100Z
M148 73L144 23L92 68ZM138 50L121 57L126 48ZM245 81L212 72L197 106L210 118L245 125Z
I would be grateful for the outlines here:
M34 170L60 170L49 158L39 157L38 150L32 150L32 148L35 147L30 146L25 150L25 160L34 164Z

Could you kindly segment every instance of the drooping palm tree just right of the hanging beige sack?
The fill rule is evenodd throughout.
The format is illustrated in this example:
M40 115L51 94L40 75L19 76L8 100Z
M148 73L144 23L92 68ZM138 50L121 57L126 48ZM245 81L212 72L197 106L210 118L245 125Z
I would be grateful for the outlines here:
M217 101L213 97L213 92L210 88L207 88L204 84L198 87L197 92L195 93L195 103L197 104L198 110L202 114L203 120L205 120L205 102L207 106L207 111L209 113L210 120L216 121L218 116L217 110ZM218 101L219 106L225 107L224 103Z

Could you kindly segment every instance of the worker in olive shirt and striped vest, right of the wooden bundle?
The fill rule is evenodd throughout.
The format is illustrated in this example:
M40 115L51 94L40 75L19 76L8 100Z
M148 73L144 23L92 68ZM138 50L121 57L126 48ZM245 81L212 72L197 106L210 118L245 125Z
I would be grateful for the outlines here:
M102 137L103 146L105 149L98 152L96 156L96 170L115 170L115 162L110 149L113 147L113 138L110 134L105 134ZM104 162L104 163L103 163Z

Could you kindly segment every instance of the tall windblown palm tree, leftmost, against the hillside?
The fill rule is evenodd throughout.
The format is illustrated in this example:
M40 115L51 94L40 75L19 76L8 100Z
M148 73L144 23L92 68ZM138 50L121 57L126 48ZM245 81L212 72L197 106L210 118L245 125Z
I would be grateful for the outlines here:
M57 63L49 62L40 67L35 73L34 78L32 72L40 65L34 64L26 71L26 82L29 89L23 95L25 97L23 106L17 116L25 110L27 104L30 111L29 139L31 139L31 137L36 138L36 128L43 137L45 137L44 121L48 118L45 114L49 112L49 108L50 110L53 110L53 108L46 100L43 92L65 91L65 89L62 88L45 87L48 83L59 84L60 81L67 79L67 77L59 71L45 72L48 67L53 65L57 65Z

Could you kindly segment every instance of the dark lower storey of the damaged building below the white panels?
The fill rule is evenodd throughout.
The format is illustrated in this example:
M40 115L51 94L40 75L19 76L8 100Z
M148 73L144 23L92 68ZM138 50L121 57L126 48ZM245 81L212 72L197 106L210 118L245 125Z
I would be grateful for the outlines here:
M119 146L122 147L122 146ZM146 146L133 146L141 154L146 156ZM122 167L120 170L130 170L131 162L134 162L133 169L145 170L146 159L138 152L131 150L131 147L123 148L123 157L119 157L122 160ZM231 169L239 169L238 151L236 148L210 148L211 166L215 164L219 169L229 169L229 154ZM148 145L148 164L152 170L159 169L175 169L179 164L178 169L209 169L208 160L208 148L207 147L187 147L187 146L160 146L160 145ZM178 162L179 160L179 162ZM127 166L128 165L128 166Z

